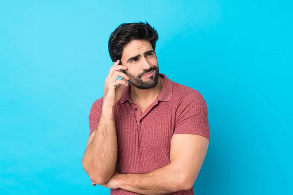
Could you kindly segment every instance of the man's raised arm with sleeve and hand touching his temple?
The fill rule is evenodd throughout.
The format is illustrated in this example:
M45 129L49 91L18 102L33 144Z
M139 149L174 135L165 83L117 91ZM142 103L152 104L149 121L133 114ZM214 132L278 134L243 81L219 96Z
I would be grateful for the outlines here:
M120 60L113 62L105 79L103 101L101 98L95 102L98 106L94 103L89 115L90 132L93 133L88 138L83 167L92 182L99 185L105 184L116 170L118 146L114 107L122 97L123 89L128 86L127 80L129 80L129 77L123 73L128 67L119 63ZM117 79L119 77L122 79Z

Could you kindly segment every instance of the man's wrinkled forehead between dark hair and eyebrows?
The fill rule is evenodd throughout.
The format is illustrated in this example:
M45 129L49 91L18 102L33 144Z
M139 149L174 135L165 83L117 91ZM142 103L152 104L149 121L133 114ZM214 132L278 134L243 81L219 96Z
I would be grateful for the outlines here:
M127 45L124 46L122 51L122 58L132 57L152 50L152 46L147 40L131 40Z

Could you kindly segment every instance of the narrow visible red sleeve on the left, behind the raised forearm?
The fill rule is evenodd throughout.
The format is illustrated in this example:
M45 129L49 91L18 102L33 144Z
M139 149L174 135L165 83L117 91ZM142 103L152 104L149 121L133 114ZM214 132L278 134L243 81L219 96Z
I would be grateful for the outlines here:
M96 131L102 111L103 98L97 99L91 106L88 120L89 120L89 136Z

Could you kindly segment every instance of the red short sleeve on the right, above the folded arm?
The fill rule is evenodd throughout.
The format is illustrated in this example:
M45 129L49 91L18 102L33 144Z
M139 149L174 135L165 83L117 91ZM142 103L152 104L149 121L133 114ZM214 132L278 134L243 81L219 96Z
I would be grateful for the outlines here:
M194 90L180 100L173 134L194 134L209 139L208 108L198 91Z

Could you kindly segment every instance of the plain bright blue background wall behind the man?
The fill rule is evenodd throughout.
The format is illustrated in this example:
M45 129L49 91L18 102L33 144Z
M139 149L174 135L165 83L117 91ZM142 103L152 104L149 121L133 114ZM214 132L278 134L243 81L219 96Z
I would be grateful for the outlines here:
M147 21L160 72L199 91L211 141L197 195L293 194L290 0L0 5L0 194L109 194L82 168L111 32Z

